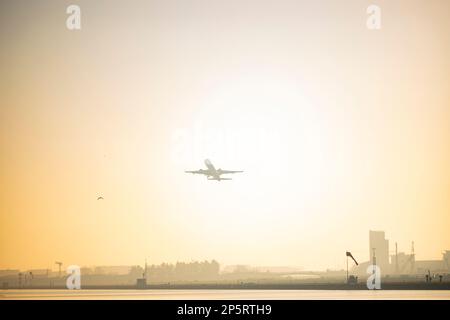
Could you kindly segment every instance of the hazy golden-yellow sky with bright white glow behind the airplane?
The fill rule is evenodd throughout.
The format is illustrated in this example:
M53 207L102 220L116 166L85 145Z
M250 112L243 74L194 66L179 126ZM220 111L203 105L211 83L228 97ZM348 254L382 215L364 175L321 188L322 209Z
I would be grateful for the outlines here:
M71 4L81 30L66 27ZM0 268L343 269L345 251L369 259L369 230L440 259L448 12L447 0L1 1ZM245 172L184 173L206 158Z

